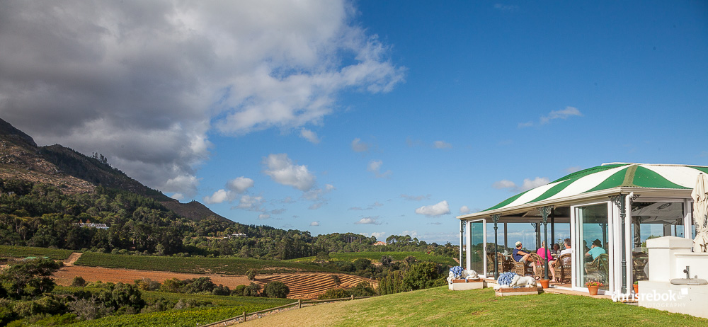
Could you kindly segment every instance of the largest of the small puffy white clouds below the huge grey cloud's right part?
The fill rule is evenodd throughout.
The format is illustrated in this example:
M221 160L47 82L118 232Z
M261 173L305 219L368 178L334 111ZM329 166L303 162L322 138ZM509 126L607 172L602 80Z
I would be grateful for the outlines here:
M275 183L292 186L303 192L314 186L314 174L307 170L307 166L293 164L287 154L269 154L268 158L263 159L263 165L265 174Z

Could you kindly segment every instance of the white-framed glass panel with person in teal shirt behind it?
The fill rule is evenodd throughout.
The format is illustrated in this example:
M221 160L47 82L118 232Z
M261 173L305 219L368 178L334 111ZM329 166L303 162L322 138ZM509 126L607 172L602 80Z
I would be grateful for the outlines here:
M610 260L607 253L610 246L610 226L607 203L576 207L575 210L575 286L585 287L586 282L601 282L603 286L600 289L607 290L610 287Z

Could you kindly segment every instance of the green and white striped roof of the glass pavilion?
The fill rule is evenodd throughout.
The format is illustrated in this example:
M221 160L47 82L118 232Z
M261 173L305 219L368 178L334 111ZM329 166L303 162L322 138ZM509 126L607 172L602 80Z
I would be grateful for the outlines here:
M514 207L527 207L535 202L547 204L578 195L597 193L601 190L665 189L691 190L699 173L708 173L707 166L657 165L657 164L603 164L561 177L546 185L532 188L484 212L499 212Z

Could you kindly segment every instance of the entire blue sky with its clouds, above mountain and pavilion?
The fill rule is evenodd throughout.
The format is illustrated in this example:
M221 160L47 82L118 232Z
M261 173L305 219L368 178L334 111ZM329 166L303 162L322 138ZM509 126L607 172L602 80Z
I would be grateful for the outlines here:
M581 168L708 165L705 1L55 8L0 5L3 119L235 222L457 243Z

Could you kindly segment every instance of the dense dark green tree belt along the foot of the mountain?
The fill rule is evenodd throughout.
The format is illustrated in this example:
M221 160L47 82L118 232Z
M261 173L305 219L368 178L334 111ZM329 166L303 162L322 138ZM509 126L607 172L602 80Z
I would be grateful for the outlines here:
M106 224L107 229L78 223ZM245 234L246 237L229 237ZM411 236L389 236L375 246L374 236L276 229L178 216L150 198L98 186L95 193L64 194L59 188L27 180L0 179L0 244L65 248L76 251L158 256L236 256L286 260L326 252L426 251L457 256L447 243L426 243Z

